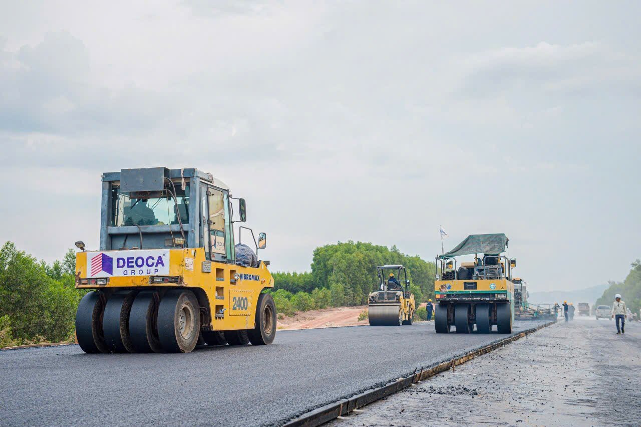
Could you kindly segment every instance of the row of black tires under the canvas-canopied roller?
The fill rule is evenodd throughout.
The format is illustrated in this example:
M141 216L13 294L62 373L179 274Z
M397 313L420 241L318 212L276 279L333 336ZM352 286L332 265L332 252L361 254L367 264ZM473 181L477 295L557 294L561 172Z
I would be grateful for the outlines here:
M437 333L450 333L451 326L456 333L491 333L495 324L499 333L512 333L512 307L510 304L495 304L496 316L492 319L493 305L488 303L458 303L453 305L437 304L434 313L434 326ZM472 315L474 310L474 315Z

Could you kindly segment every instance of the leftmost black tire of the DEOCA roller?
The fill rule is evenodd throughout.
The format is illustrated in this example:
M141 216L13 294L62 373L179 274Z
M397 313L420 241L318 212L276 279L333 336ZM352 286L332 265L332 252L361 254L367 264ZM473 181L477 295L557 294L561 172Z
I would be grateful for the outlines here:
M102 292L87 292L76 310L76 337L85 353L109 353L104 343L103 313L106 298Z

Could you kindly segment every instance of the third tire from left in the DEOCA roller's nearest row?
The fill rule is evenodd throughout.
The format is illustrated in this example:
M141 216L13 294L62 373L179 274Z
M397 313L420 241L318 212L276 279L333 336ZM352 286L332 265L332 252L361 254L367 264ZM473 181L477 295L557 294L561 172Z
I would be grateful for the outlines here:
M158 338L158 302L157 292L145 290L133 300L129 313L129 337L137 353L162 353Z

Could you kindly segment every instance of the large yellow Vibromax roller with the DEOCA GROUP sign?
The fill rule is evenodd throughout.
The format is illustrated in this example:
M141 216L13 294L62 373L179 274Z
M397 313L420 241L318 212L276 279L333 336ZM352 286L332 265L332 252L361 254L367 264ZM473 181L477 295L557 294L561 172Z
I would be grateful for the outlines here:
M269 261L235 245L246 221L229 187L197 169L122 169L102 175L99 251L76 254L76 312L86 353L188 353L210 345L271 344L276 307Z

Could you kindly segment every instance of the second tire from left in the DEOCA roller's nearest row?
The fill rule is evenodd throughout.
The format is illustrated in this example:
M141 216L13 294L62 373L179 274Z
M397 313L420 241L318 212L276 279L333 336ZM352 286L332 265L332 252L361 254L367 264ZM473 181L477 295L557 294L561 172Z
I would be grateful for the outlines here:
M109 297L104 307L104 342L113 353L134 353L129 337L129 312L136 292L122 290Z

